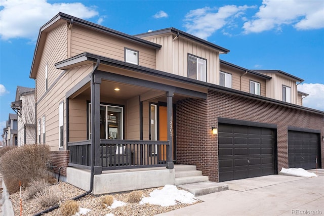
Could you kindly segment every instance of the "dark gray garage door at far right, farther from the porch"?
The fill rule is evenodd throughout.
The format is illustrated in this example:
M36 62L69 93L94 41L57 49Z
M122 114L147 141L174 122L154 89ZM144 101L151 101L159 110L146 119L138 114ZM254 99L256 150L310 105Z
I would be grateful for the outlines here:
M288 162L289 168L316 168L320 162L318 155L319 140L314 133L288 131ZM319 168L319 164L317 164Z

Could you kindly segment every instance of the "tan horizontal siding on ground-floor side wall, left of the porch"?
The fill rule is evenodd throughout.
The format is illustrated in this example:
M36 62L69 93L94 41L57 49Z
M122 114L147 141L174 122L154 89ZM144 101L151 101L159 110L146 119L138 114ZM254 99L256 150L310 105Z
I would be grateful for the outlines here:
M53 85L41 100L37 100L37 119L46 119L46 144L51 150L59 150L59 104L64 102L64 149L66 148L66 98L65 93L76 85L80 80L89 75L93 70L94 64L76 67L63 72L54 71L57 74L63 73L62 77ZM73 118L72 118L73 119ZM38 133L38 131L37 131ZM38 136L38 134L37 134Z

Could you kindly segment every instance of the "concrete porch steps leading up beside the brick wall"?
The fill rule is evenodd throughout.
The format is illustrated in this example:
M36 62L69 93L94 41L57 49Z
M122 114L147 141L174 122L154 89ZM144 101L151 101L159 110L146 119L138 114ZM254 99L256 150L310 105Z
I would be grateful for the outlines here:
M195 196L228 190L227 184L208 181L208 176L203 176L195 165L176 164L174 168L175 185Z

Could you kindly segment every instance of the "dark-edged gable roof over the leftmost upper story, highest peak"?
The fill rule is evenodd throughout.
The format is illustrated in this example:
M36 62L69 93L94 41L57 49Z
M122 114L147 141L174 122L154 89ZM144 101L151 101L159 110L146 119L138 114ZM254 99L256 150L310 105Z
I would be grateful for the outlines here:
M98 25L98 24L95 24L95 23L92 23L92 22L89 22L89 21L86 21L83 19L79 19L77 17L73 17L71 15L59 12L55 17L53 17L50 21L48 21L45 25L43 25L39 29L36 47L35 47L35 51L34 51L34 56L33 56L33 60L31 63L31 69L30 69L30 74L29 74L30 78L33 78L33 79L36 78L36 68L39 64L39 61L40 61L42 53L43 53L43 50L38 50L38 49L39 49L39 47L44 46L45 41L46 41L47 32L49 32L50 30L52 30L53 28L55 28L56 26L58 26L64 22L70 22L73 25L75 25L75 24L82 25L82 26L90 28L92 30L100 31L100 32L108 34L108 35L127 39L132 42L136 42L137 44L141 44L141 45L153 48L153 49L161 48L161 45L154 44L153 42L141 39L139 37L135 37L135 36L120 32L120 31L113 30L111 28L107 28L107 27L104 27L104 26L101 26L101 25Z

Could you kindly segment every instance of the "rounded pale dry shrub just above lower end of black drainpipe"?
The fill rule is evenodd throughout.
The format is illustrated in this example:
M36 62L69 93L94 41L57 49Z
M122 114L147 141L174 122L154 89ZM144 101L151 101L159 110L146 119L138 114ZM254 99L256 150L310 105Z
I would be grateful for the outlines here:
M43 207L59 204L63 200L63 196L57 185L43 189L35 195L35 198Z

